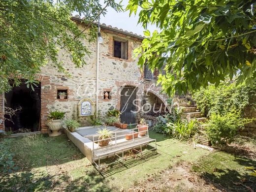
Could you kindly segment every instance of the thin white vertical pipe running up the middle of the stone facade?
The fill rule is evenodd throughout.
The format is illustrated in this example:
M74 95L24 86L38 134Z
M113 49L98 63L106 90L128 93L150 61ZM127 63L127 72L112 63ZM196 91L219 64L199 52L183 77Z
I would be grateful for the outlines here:
M99 43L102 43L103 39L100 35L99 17L98 17L98 36L97 36L97 58L96 58L96 117L98 117L98 68L99 68Z

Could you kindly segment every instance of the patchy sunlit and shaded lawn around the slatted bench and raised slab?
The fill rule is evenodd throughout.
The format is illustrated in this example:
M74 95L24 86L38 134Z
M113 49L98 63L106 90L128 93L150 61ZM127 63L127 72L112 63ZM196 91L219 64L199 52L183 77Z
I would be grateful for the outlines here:
M150 132L157 139L158 154L154 152L145 160L131 158L126 166L114 165L103 176L68 140L66 135L48 137L38 134L18 138L5 138L14 153L20 169L0 176L0 189L19 191L120 191L173 166L176 162L195 161L209 151L193 149L192 144L181 143L158 133ZM0 143L2 144L2 143Z

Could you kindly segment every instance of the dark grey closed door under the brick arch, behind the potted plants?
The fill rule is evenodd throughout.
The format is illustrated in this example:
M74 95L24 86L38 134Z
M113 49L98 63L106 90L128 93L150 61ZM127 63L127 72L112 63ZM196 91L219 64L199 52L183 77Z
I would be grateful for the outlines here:
M137 89L134 87L124 87L121 91L121 122L127 124L136 123L136 111L135 99L137 95ZM133 102L134 101L134 102Z

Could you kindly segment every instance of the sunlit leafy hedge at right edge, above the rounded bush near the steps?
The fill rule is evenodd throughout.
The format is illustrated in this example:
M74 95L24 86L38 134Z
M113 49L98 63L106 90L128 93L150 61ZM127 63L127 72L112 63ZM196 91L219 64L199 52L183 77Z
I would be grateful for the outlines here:
M224 115L236 110L250 113L256 109L256 84L221 83L218 88L210 85L193 94L197 108L206 116L213 113Z

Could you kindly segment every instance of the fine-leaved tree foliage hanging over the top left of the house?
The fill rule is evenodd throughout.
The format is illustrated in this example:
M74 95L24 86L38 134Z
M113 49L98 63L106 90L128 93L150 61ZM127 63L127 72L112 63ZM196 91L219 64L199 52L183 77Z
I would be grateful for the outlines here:
M105 5L104 8L122 9L114 0L106 1ZM59 54L70 54L76 67L86 64L90 51L83 42L96 39L96 25L90 25L81 33L70 19L74 12L84 17L82 23L88 25L97 21L100 13L104 15L106 9L99 0L0 1L1 93L10 89L8 78L11 75L21 75L33 82L35 74L46 64L68 74L63 62L58 60ZM18 78L14 80L15 84L20 84Z

